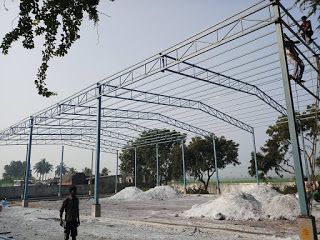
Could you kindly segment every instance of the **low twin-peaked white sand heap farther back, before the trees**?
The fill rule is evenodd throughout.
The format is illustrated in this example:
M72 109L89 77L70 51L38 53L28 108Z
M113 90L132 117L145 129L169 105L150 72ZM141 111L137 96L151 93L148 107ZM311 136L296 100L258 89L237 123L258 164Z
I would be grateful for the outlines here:
M170 186L159 186L144 192L136 187L127 187L110 197L111 200L144 201L179 198L180 194Z

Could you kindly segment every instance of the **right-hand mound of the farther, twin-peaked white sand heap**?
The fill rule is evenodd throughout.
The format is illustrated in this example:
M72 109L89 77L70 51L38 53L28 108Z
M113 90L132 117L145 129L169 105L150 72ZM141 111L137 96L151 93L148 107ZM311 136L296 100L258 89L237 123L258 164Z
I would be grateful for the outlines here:
M179 198L178 191L170 186L158 186L137 196L139 200L166 200Z

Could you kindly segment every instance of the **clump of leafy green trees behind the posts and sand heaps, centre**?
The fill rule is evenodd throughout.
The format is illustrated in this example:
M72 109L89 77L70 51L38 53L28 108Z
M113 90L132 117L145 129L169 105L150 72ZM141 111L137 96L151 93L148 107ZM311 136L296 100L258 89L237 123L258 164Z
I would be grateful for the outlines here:
M143 139L154 139L157 135L168 133L180 134L168 129L153 129L146 131L129 142L128 146L137 146ZM182 135L181 135L182 136ZM216 171L214 164L213 139L207 137L194 137L184 144L186 173L202 183L205 191L208 189L210 179ZM216 156L218 169L224 169L228 165L239 165L238 160L239 144L233 140L227 140L224 136L216 138ZM156 183L157 163L155 144L137 148L137 183L154 185ZM133 147L125 147L120 154L120 170L124 175L134 175L134 154ZM159 178L163 184L171 180L181 180L182 150L181 140L164 142L158 144Z

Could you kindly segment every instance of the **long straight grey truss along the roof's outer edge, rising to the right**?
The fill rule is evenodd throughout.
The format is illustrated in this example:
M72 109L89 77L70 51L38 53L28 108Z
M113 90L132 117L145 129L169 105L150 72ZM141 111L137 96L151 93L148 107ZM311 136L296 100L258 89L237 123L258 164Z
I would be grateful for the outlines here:
M109 84L116 85L117 87L128 86L228 42L236 40L242 36L265 28L274 23L273 12L270 11L270 9L270 3L261 1L239 14L236 14L213 27L188 38L180 44L162 51L161 53L163 55L175 56L175 60L168 61L166 66L163 66L162 63L163 55L155 55L143 62L127 68L122 72L104 79L99 83L99 86L101 87L100 90L97 88L96 84L91 85L58 104L34 114L33 116L36 119L35 125L40 124L49 118L54 118L62 113L66 113L72 110L74 106L80 106L88 102L95 101L99 96L109 94L110 89L107 87ZM114 89L112 91L114 91ZM20 129L21 127L29 126L29 118L27 118L10 128L5 129L2 133L15 132L16 128Z

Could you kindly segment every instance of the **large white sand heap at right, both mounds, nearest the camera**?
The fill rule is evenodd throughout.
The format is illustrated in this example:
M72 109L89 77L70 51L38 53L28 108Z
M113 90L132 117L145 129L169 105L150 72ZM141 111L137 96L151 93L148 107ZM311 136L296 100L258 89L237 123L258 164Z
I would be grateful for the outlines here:
M293 195L279 194L268 186L256 186L246 192L226 193L215 200L194 205L182 215L218 220L292 220L299 215L299 204Z

